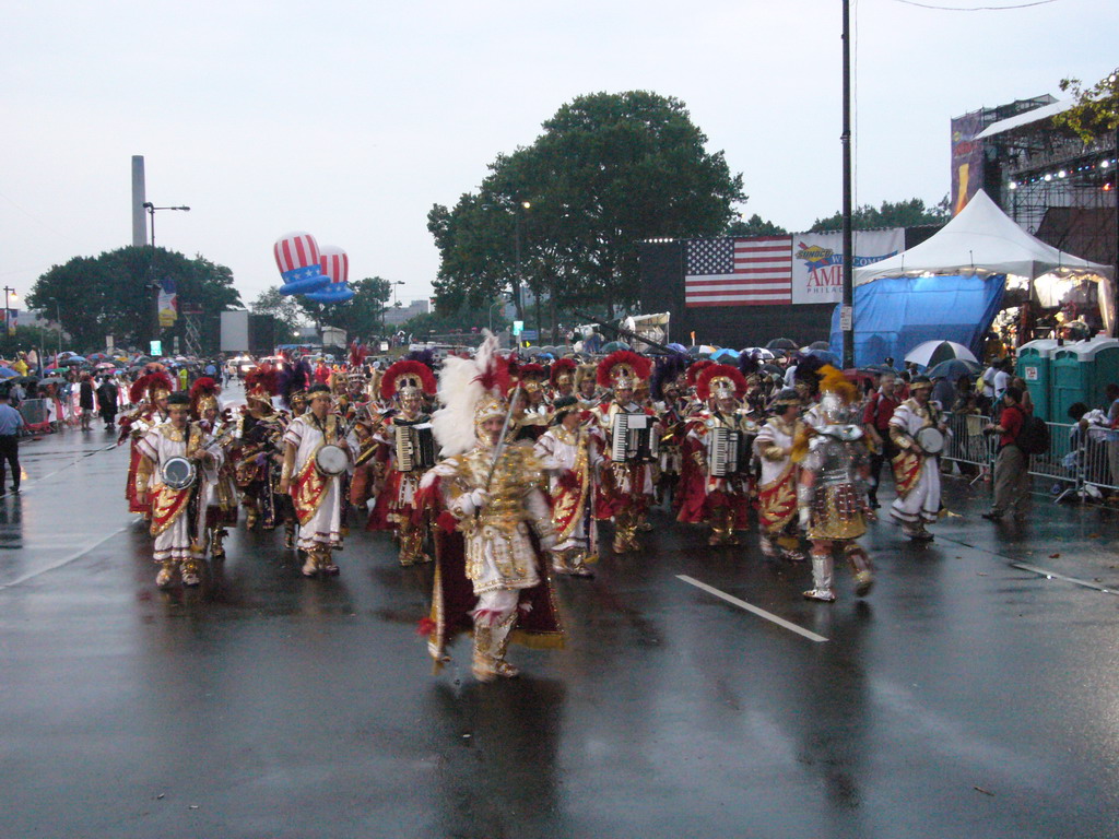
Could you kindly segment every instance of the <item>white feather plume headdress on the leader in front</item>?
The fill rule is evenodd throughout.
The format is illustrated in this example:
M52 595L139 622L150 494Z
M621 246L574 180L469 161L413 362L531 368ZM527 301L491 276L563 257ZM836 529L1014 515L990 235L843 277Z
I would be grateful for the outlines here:
M431 418L435 442L444 458L464 454L478 444L474 412L487 397L504 399L509 384L505 359L497 353L497 337L489 330L473 358L446 358L439 374L442 407Z

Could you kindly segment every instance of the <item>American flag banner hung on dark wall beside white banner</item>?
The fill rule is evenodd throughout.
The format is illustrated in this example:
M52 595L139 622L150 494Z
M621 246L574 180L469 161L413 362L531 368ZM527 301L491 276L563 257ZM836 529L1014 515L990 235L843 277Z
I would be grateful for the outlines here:
M792 237L689 241L684 302L689 309L792 303Z

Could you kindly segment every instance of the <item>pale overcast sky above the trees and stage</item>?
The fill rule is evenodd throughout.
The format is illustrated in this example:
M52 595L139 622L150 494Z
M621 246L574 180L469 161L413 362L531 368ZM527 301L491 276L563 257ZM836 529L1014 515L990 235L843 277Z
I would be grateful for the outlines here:
M929 0L1006 6L1013 0ZM856 201L949 189L949 120L1094 83L1119 63L1116 0L953 12L853 0ZM350 277L430 294L432 204L478 187L573 97L683 100L742 172L742 211L790 229L840 201L839 0L8 0L0 140L4 284L131 244L131 157L156 242L280 284L308 230Z

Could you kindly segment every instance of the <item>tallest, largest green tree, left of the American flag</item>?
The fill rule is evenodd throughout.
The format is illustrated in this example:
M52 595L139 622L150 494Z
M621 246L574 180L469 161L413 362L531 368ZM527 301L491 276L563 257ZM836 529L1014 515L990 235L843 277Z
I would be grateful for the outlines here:
M590 94L543 128L532 145L499 155L478 192L429 214L441 257L436 309L509 291L524 317L523 277L549 308L614 312L638 299L638 243L717 235L745 200L742 176L705 149L679 100Z

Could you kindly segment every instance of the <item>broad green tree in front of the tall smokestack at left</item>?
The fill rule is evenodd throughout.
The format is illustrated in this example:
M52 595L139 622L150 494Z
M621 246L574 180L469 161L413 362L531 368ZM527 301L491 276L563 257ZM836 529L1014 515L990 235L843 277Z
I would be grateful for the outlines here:
M201 310L204 345L216 345L216 315L241 305L233 272L203 256L189 258L162 247L122 247L100 256L75 256L43 274L27 295L27 305L54 315L57 311L73 348L92 350L113 336L119 346L145 346L159 337L186 338L185 318L170 328L156 324L157 284L175 281L179 305ZM204 346L214 350L216 346Z

